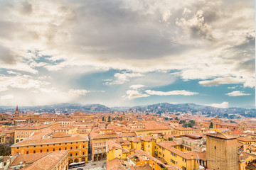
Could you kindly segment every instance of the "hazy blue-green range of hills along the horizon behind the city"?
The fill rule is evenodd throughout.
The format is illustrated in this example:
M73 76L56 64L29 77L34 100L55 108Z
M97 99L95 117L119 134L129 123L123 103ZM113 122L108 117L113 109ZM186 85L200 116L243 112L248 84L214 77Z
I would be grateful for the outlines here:
M0 106L0 113L14 112L16 106ZM214 108L211 106L201 106L194 103L156 103L146 106L134 106L134 107L114 107L109 108L101 104L87 104L82 105L80 103L58 103L46 106L24 106L19 107L20 111L38 111L41 112L60 112L60 113L74 113L81 111L84 113L114 113L114 111L128 111L129 108L136 108L138 112L150 112L150 113L202 113L209 116L213 115L225 115L225 114L240 114L246 117L256 117L255 109L247 108Z

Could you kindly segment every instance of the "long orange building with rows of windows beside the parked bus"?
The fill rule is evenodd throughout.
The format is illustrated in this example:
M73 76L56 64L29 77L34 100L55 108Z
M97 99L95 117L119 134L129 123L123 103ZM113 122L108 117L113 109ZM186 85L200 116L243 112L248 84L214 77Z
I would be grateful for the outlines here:
M37 135L11 146L11 154L36 154L68 150L68 162L87 162L88 137L86 135L68 135L65 132L43 130Z

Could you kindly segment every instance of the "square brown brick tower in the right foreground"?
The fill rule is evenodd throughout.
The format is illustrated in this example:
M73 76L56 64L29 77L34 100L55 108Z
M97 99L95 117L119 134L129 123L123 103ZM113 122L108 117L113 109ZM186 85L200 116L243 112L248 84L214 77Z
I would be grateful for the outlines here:
M238 170L237 137L220 132L207 134L206 161L211 170Z

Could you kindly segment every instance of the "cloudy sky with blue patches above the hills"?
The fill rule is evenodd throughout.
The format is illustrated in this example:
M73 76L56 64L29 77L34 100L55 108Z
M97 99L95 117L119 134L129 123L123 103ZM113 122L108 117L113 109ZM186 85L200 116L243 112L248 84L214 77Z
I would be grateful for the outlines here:
M255 106L255 1L0 1L0 106Z

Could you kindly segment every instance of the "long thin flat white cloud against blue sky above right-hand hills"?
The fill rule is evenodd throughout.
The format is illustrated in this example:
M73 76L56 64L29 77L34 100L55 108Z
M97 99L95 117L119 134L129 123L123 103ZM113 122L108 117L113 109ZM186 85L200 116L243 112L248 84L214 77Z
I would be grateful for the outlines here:
M179 90L179 91L151 91L146 90L147 94L150 95L159 95L159 96L169 96L169 95L183 95L183 96L191 96L198 94L197 92L191 92L186 90Z

